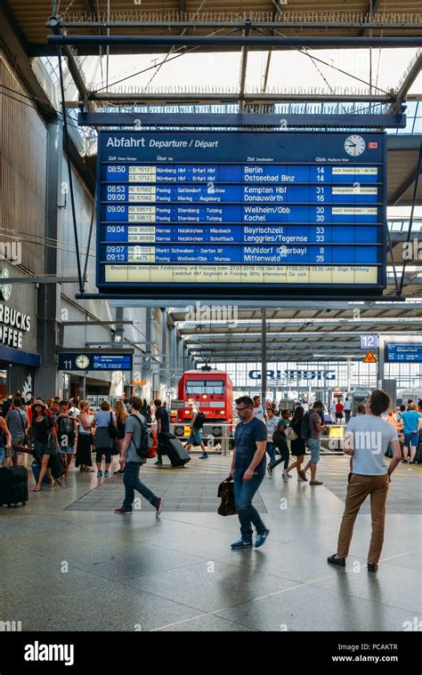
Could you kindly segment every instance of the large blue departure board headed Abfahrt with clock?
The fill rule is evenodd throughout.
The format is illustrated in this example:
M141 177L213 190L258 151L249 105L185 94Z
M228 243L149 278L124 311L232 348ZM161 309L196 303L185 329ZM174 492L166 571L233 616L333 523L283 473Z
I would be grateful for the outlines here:
M101 132L97 285L378 294L385 134Z

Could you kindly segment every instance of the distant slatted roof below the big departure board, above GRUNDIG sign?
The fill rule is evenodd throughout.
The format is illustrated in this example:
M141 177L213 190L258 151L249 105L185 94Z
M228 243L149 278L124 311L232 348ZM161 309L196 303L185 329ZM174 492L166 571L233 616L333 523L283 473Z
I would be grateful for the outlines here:
M171 320L192 356L198 363L259 362L261 309L233 309L219 304L221 310L210 305L209 312L225 317L220 322L186 321L186 311L171 312ZM207 307L202 305L199 311L205 312ZM224 311L230 312L228 318ZM422 335L421 303L405 307L383 301L356 302L354 306L353 302L292 301L283 303L282 308L266 309L266 326L268 362L359 361L365 354L360 349L361 334Z

